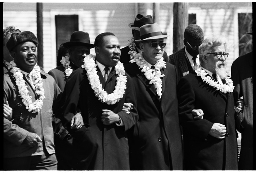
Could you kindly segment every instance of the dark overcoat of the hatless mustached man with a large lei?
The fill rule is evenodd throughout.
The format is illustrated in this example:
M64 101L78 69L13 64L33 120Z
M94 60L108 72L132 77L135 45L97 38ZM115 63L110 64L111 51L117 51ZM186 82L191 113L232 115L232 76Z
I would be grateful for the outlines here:
M112 68L106 82L98 67L97 74L102 88L108 93L113 93L117 81L116 70ZM129 170L127 134L134 127L138 112L131 77L127 73L125 76L127 76L125 94L118 103L113 105L102 103L95 96L85 69L76 69L68 78L63 93L65 104L61 122L73 137L73 146L77 155L76 169ZM122 111L124 103L134 105L129 114ZM109 109L118 114L124 126L117 126L115 123L103 125L102 109ZM70 120L78 110L81 111L84 126L79 130L71 130Z

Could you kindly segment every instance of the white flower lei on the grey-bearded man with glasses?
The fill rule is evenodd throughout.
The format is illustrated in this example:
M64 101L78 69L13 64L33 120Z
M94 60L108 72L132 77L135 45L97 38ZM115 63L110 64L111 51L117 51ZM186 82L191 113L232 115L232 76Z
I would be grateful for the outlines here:
M197 76L200 76L204 82L206 82L207 84L209 84L210 86L217 88L216 91L221 91L223 93L227 93L227 92L233 92L234 86L233 86L233 81L230 79L230 77L226 77L226 83L227 84L220 84L217 81L214 81L210 76L206 76L206 72L205 70L202 69L201 66L199 66L196 70L195 70Z

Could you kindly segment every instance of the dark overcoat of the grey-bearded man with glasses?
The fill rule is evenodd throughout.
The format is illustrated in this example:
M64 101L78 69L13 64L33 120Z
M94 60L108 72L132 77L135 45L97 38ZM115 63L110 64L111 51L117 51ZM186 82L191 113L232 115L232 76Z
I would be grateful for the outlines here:
M216 91L193 72L178 82L178 101L184 135L184 168L237 170L233 93ZM194 120L193 109L202 109L203 119ZM227 128L224 139L208 134L214 123L221 123Z

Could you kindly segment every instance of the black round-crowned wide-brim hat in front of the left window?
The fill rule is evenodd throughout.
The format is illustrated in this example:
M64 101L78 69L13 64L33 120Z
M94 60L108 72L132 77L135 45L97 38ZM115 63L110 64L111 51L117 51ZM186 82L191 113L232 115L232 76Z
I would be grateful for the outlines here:
M70 41L63 44L64 47L69 48L71 46L86 46L90 49L94 47L90 42L90 37L87 32L75 31L71 34Z

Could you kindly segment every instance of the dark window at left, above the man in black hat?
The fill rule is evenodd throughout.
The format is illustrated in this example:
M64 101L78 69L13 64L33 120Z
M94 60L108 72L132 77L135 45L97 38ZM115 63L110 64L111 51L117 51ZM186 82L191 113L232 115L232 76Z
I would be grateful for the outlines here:
M72 32L78 31L78 15L56 15L56 54L62 43L68 42ZM57 66L61 65L57 58Z

